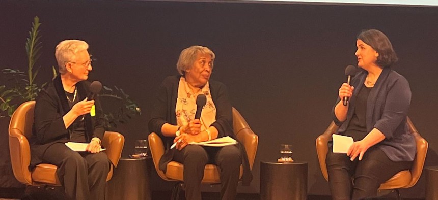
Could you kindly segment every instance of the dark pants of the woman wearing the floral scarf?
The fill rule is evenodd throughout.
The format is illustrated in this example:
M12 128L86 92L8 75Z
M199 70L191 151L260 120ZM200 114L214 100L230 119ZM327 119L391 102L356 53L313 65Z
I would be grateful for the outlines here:
M175 150L173 160L184 164L185 197L188 200L201 199L201 181L207 163L216 164L221 172L221 198L235 199L239 181L241 155L237 145L225 147L203 147L187 145L181 151Z

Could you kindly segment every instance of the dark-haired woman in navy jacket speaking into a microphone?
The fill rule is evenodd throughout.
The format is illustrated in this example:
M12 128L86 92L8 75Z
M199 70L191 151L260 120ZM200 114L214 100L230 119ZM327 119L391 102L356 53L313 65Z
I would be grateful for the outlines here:
M406 126L409 83L390 68L397 61L391 42L379 30L364 30L356 44L360 70L339 88L333 108L336 134L354 140L346 155L327 153L333 199L375 197L381 183L412 166L416 152ZM344 97L350 98L347 106Z

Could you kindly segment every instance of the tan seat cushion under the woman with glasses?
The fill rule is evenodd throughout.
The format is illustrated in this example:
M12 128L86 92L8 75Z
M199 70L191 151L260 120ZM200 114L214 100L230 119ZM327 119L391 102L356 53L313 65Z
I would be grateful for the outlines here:
M57 169L57 166L53 164L38 164L32 171L32 180L44 184L61 185L56 175Z

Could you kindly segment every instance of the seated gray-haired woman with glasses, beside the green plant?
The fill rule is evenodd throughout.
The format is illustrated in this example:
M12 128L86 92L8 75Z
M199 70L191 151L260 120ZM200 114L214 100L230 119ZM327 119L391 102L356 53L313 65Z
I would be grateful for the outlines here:
M88 100L92 70L88 44L62 41L56 47L59 73L38 94L34 111L30 168L39 163L58 166L57 175L68 198L104 199L110 160L99 152L105 132L97 96ZM92 106L96 115L91 116ZM75 152L66 142L89 143L86 152Z

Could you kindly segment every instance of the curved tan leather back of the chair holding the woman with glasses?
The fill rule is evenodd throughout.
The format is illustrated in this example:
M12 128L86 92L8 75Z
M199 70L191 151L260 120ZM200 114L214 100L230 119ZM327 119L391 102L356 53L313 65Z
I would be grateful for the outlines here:
M9 151L12 171L15 178L24 184L32 185L29 171L31 149L28 138L32 136L35 101L21 104L11 117L9 123Z

